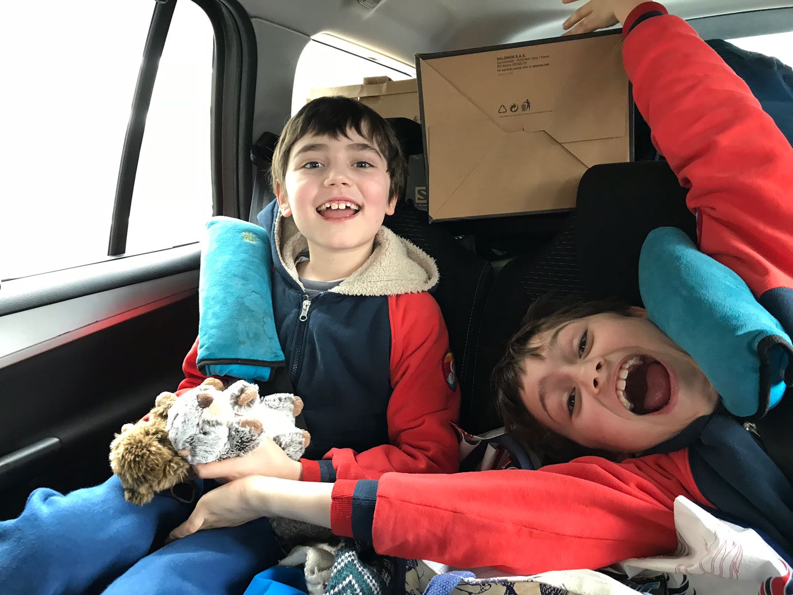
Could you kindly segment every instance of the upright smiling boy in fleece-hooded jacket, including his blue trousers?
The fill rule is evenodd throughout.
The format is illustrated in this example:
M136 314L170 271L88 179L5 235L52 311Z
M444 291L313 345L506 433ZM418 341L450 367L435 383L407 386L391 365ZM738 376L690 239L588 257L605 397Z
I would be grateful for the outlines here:
M278 201L259 221L273 251L278 340L312 441L293 461L267 439L246 457L196 466L200 478L318 486L457 470L450 422L460 395L427 293L438 269L382 226L405 178L393 130L359 102L319 98L287 123L273 159ZM197 351L198 341L180 390L205 378ZM132 505L115 477L66 495L36 489L21 516L0 522L3 593L241 593L285 554L265 519L159 547L193 505L165 494Z

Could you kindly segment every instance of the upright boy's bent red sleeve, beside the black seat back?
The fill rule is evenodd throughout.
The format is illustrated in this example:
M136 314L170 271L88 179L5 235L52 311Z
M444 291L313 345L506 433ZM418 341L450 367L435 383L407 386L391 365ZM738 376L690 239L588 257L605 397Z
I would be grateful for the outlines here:
M454 473L460 390L440 308L430 294L389 296L391 318L390 444L356 453L334 448L336 479L376 479L388 471ZM304 463L304 478L308 463ZM311 479L318 479L311 474Z

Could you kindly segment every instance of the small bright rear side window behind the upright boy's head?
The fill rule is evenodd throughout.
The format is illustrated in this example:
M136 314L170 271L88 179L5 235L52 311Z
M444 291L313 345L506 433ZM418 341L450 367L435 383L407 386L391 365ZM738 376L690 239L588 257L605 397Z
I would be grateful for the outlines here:
M305 106L312 88L359 85L365 76L415 79L416 68L327 34L312 38L297 60L292 114Z

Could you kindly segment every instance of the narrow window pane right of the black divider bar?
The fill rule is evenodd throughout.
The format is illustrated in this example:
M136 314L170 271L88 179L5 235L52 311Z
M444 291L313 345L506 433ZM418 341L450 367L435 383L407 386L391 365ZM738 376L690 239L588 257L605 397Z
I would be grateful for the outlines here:
M212 216L213 39L204 11L177 2L140 148L127 254L200 240Z

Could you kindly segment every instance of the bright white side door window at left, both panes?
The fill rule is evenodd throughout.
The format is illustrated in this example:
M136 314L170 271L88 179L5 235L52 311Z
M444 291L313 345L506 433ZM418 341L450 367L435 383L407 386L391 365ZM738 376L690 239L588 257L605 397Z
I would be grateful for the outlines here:
M107 259L121 151L151 2L42 0L4 8L0 279ZM159 64L128 253L196 240L211 215L213 29L179 2Z

